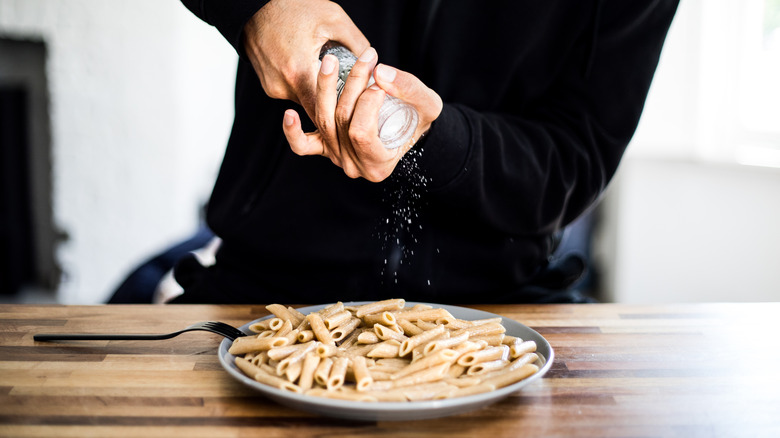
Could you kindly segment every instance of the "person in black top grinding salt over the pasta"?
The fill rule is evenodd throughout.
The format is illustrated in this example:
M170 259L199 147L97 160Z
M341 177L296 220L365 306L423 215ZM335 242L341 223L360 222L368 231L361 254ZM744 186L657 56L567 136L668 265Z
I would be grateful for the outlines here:
M556 236L614 175L677 0L183 3L239 61L222 243L172 302L586 301ZM359 58L340 97L329 42ZM419 114L392 150L386 95Z

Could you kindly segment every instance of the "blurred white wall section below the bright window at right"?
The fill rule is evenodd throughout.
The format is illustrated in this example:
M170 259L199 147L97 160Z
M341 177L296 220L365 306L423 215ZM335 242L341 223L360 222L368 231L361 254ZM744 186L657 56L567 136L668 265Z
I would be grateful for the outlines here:
M778 193L776 169L626 161L607 200L610 299L777 301Z

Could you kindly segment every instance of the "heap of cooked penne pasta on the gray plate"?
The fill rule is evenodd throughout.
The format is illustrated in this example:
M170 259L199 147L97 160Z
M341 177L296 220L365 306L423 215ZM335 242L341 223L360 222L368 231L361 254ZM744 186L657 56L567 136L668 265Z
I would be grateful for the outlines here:
M536 343L501 318L455 318L403 299L338 302L304 315L279 304L229 353L244 374L307 395L353 401L441 400L493 391L538 372Z

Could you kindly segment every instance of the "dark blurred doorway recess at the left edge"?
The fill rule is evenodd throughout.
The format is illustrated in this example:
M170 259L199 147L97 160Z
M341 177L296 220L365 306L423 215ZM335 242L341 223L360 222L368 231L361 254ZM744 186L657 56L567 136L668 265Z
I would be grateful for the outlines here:
M0 37L0 298L59 285L49 126L46 45Z

